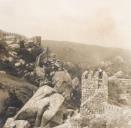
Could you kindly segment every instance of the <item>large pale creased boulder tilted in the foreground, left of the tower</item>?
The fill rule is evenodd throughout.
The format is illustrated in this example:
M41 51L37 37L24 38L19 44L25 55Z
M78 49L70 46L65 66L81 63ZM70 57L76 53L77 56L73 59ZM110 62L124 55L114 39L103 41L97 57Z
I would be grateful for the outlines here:
M16 114L15 120L27 120L32 126L46 126L56 115L64 97L49 86L40 87Z

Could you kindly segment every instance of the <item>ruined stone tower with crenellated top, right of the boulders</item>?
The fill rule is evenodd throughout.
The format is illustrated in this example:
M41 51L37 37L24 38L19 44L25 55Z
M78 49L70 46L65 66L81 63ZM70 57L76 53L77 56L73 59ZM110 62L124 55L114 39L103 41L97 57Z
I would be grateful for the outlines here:
M104 103L108 102L108 76L102 71L85 71L82 75L81 115L104 114Z

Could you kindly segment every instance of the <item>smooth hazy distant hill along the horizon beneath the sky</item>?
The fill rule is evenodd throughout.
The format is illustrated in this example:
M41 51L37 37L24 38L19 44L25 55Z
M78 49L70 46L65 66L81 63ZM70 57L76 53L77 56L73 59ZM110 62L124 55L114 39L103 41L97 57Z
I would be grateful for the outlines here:
M52 40L45 40L42 44L44 47L48 46L59 58L74 64L99 65L101 61L111 60L116 56L121 56L131 64L130 50Z

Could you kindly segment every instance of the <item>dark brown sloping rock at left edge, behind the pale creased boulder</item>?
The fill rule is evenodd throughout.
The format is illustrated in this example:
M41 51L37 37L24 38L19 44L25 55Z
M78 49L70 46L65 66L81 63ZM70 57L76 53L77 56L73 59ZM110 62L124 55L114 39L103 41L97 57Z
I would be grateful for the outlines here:
M11 98L19 100L22 104L25 104L37 90L37 87L25 80L7 74L0 74L0 87L7 90Z

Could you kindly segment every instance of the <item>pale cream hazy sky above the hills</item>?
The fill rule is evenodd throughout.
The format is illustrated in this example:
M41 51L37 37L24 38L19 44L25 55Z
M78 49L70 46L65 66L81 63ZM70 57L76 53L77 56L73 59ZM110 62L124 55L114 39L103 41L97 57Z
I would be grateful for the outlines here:
M0 0L0 29L131 48L131 0Z

